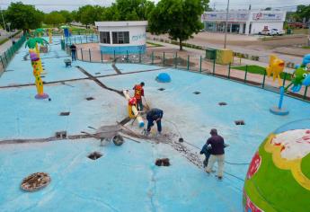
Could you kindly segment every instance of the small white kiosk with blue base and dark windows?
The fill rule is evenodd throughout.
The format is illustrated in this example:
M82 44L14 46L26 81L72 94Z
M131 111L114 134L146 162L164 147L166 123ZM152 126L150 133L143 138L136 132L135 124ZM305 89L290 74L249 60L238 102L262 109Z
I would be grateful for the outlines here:
M95 22L104 54L145 53L147 22Z

